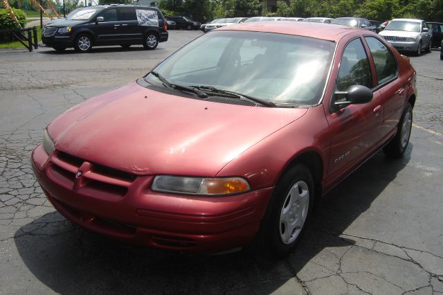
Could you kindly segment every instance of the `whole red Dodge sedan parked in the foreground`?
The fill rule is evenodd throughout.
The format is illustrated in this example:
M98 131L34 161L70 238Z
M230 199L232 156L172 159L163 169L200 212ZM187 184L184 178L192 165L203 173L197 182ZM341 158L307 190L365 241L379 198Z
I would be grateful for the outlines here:
M256 237L284 256L322 195L381 147L404 154L415 84L368 30L225 26L55 118L32 166L85 229L195 253Z

